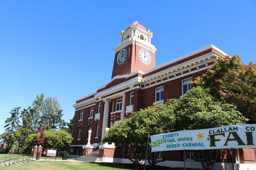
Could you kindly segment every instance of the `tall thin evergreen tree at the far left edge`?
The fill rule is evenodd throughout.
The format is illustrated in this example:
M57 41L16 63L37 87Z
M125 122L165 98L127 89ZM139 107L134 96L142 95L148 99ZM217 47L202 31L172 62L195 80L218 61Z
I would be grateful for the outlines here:
M15 144L16 130L19 128L19 112L20 107L15 107L10 111L11 116L5 120L5 132L1 134L0 138L7 144L5 147L5 152L8 152L10 149L13 149L13 145Z

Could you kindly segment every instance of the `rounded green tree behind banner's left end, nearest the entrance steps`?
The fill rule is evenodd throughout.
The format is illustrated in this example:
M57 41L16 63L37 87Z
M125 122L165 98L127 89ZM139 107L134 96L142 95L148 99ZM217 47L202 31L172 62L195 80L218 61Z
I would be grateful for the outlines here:
M167 133L175 128L175 115L173 104L176 100L159 103L146 109L134 112L129 118L121 120L112 126L104 136L103 142L114 142L117 146L123 146L127 152L127 158L132 162L145 158L148 135ZM149 145L150 146L150 145ZM157 153L149 157L150 166L165 160L156 160Z

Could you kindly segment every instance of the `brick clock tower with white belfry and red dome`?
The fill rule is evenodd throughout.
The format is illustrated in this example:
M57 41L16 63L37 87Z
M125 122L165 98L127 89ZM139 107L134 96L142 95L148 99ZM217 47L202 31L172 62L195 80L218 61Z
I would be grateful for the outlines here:
M112 78L155 67L156 48L151 44L153 33L137 21L119 33L121 42L115 48Z

